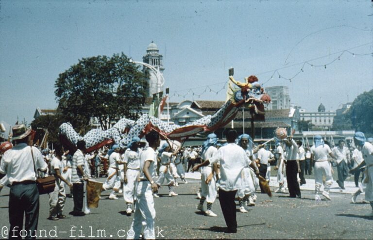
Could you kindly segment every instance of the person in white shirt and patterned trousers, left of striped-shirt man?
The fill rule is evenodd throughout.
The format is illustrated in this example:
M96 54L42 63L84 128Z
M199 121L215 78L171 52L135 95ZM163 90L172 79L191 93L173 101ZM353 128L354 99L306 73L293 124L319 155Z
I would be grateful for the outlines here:
M49 220L59 220L60 218L66 218L62 214L65 201L66 201L66 192L65 184L69 188L72 188L72 184L68 182L62 175L61 170L63 169L62 159L62 149L60 146L56 146L55 157L51 160L51 175L56 178L56 185L54 191L49 194Z

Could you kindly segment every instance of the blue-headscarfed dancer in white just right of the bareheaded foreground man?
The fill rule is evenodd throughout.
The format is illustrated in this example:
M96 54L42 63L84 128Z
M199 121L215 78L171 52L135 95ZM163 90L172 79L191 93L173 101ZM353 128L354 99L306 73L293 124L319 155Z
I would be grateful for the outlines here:
M177 193L173 191L175 179L170 172L170 160L172 156L175 156L179 152L180 146L172 152L172 147L170 145L170 141L167 139L167 143L163 144L161 149L158 150L161 166L159 167L159 177L156 182L158 185L162 185L166 180L166 184L169 186L169 196L172 197L177 196Z

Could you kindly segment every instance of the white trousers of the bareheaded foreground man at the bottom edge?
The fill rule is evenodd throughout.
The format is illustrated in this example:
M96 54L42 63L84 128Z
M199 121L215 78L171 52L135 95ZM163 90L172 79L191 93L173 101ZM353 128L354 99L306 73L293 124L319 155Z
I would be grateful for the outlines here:
M136 187L136 210L135 216L131 224L131 228L127 234L127 239L139 239L144 226L144 238L155 239L154 219L155 209L152 188L149 181L140 181Z

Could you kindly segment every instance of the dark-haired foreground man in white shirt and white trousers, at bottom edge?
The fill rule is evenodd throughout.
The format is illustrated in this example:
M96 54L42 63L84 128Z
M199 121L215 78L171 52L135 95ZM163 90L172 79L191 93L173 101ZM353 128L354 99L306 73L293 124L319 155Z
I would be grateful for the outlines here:
M160 137L156 131L151 131L145 136L145 139L149 143L149 147L140 154L140 174L136 187L136 211L130 228L134 235L127 235L127 239L140 238L143 222L145 223L144 239L155 239L155 209L152 192L158 191L158 185L153 178L155 177L154 162L157 160L155 149L160 144Z

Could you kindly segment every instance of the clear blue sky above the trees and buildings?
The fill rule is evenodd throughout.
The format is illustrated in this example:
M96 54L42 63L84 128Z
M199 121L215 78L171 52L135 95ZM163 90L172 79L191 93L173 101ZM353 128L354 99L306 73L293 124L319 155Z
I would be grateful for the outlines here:
M370 0L0 0L0 122L55 109L55 80L79 59L141 62L152 41L171 102L225 100L230 67L307 111L373 88Z

